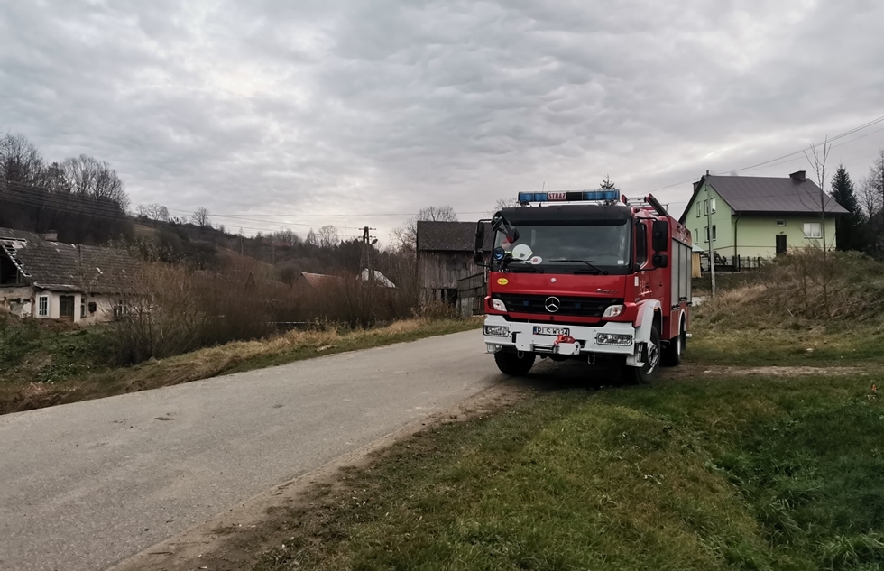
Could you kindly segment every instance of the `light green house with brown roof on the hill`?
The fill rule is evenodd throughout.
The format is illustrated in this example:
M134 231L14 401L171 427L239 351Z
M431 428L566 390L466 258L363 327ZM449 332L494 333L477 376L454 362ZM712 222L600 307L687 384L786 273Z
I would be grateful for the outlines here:
M782 178L707 172L679 222L704 252L712 240L717 263L740 267L796 248L833 248L835 216L843 214L804 170Z

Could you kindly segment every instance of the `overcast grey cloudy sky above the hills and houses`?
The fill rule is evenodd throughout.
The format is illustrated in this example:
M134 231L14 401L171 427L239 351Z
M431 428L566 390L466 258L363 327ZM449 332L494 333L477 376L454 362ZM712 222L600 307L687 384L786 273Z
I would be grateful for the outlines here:
M706 170L810 170L884 116L881 22L879 0L0 0L0 131L247 235L384 243L421 207L605 176L680 214ZM828 168L861 180L882 148L871 124Z

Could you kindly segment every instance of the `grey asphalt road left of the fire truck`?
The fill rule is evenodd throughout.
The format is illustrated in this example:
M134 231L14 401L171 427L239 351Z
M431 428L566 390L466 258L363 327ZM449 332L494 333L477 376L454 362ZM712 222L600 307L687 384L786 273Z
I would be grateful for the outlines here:
M106 569L501 379L479 331L0 417L0 569Z

